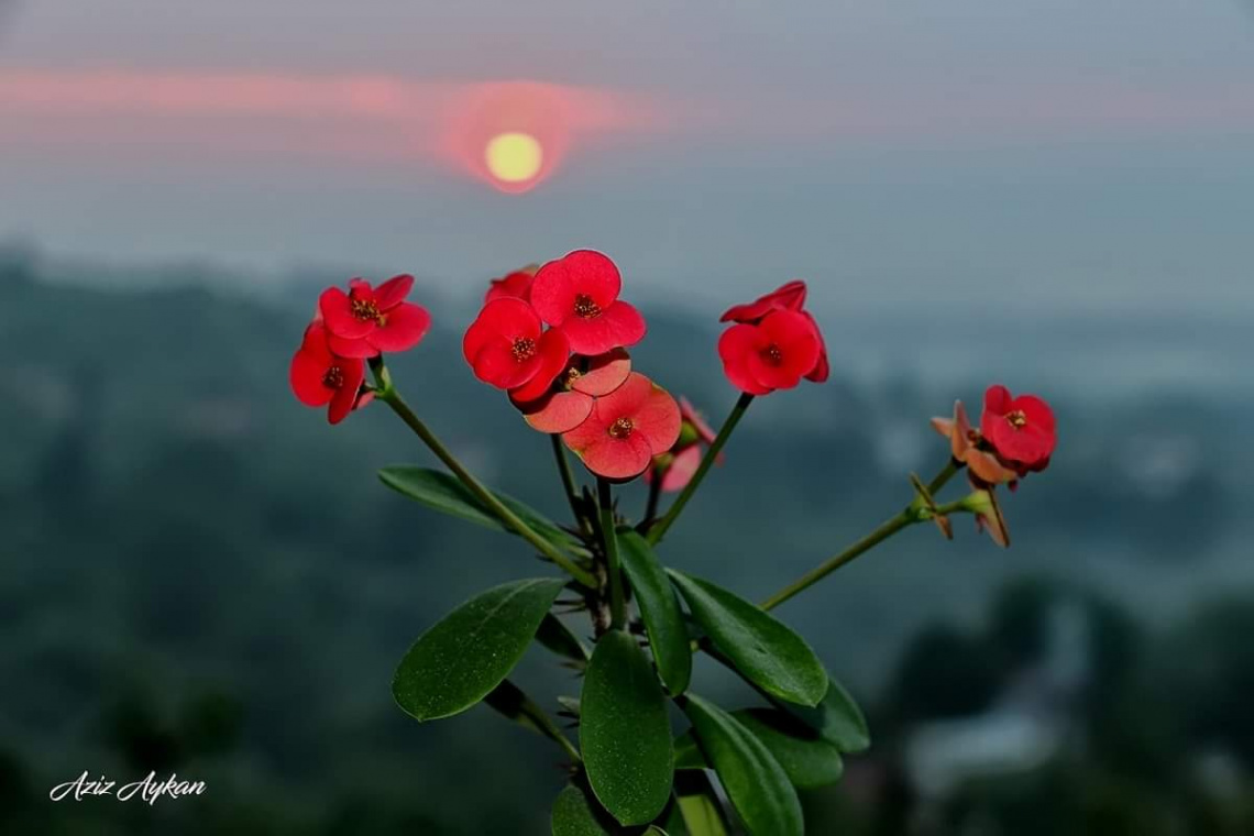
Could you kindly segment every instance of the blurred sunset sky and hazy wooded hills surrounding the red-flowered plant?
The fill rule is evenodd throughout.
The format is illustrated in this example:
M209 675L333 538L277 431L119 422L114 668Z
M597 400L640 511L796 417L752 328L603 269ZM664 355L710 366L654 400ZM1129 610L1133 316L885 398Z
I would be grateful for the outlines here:
M0 0L0 831L548 832L543 741L389 692L535 564L381 488L425 451L286 374L324 286L415 273L399 385L558 515L459 340L489 278L594 247L715 422L719 313L810 282L833 381L755 404L667 541L749 598L907 501L956 397L1057 411L1008 551L920 526L779 610L875 737L813 832L1254 832L1251 10ZM48 801L84 770L208 791Z

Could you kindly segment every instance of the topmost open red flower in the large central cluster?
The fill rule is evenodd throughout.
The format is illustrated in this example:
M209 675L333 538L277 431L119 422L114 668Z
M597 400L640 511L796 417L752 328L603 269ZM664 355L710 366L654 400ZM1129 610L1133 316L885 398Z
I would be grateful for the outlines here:
M561 328L571 350L587 356L633 346L645 337L645 317L618 298L622 278L609 258L592 249L540 267L532 282L532 305Z

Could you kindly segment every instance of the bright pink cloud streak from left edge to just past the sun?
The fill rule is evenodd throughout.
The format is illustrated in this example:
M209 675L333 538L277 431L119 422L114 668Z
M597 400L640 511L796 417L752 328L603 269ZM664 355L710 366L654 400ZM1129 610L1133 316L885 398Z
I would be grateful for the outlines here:
M0 71L0 142L35 150L403 159L483 174L494 130L543 134L552 169L574 145L663 122L641 95L534 81Z

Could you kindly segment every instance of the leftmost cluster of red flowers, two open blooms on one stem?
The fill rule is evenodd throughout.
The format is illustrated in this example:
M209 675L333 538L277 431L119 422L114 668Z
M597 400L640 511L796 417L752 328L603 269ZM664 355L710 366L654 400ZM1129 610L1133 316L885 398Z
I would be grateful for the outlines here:
M413 276L396 276L379 287L354 278L347 293L339 287L322 292L288 372L302 404L326 406L327 420L339 424L370 402L365 361L384 351L413 348L431 326L425 308L405 301L413 286Z

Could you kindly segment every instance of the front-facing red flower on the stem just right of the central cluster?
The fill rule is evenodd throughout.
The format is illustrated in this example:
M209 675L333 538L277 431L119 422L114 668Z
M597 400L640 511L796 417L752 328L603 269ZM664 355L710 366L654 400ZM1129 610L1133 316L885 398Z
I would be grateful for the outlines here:
M793 389L815 370L823 345L806 313L776 310L757 325L734 325L719 338L732 386L750 395Z

